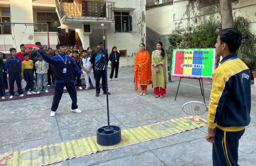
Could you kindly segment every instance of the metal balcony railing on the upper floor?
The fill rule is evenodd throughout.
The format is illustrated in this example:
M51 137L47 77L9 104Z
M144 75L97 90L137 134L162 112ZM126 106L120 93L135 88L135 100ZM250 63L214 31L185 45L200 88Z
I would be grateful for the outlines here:
M63 17L97 17L114 20L114 2L103 0L55 0L60 20Z

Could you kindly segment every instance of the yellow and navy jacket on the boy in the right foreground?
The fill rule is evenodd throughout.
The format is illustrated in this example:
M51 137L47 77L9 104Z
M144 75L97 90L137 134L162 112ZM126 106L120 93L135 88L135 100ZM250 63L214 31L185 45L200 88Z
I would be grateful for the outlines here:
M250 71L236 53L220 63L213 73L208 127L240 131L250 123Z

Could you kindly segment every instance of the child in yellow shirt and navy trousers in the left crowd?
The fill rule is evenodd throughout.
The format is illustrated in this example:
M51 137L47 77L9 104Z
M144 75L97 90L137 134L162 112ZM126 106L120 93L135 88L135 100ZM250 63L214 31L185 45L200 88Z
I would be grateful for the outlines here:
M25 90L27 91L27 94L36 94L34 91L33 61L29 59L28 53L24 53L23 57L25 61L23 61L21 64L21 77L24 78L27 83Z

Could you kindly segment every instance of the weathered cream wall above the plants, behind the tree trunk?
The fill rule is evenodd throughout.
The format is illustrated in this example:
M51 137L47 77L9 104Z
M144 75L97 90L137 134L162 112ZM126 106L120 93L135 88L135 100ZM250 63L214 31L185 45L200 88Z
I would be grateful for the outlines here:
M233 17L242 16L249 31L256 33L256 1L232 0ZM168 44L168 36L177 30L196 27L206 21L220 21L220 0L147 0L146 41L154 48L157 41Z

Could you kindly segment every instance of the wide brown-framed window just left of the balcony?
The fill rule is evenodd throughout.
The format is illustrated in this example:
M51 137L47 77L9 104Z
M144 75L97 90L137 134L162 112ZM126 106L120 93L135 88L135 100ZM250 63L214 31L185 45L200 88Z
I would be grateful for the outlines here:
M36 14L37 23L40 24L49 24L49 32L61 32L60 21L58 19L57 13L51 12L37 12ZM47 32L46 25L38 25L38 30Z

